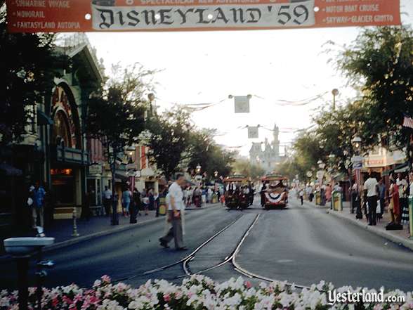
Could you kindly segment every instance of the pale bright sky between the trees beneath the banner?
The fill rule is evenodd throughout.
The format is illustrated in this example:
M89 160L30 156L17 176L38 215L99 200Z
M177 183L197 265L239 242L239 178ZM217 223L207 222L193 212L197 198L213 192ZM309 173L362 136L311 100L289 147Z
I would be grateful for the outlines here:
M388 0L393 1L393 0ZM413 0L401 0L402 22L413 23ZM216 103L192 113L197 127L217 129L219 144L247 156L251 142L273 140L274 124L280 127L281 153L291 145L292 129L310 127L311 116L322 105L332 104L332 89L341 105L355 96L340 72L328 63L327 41L350 44L358 27L301 30L251 30L225 32L117 32L88 34L106 69L114 63L141 63L155 75L159 110L175 103ZM109 71L108 71L109 72ZM108 73L107 72L107 73ZM324 100L288 107L279 100L300 101L326 93ZM233 96L253 95L250 113L235 114ZM258 139L248 139L247 125L262 127ZM240 148L239 148L240 147Z

